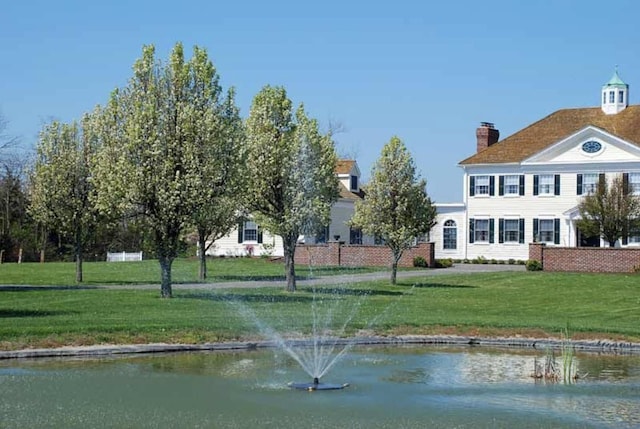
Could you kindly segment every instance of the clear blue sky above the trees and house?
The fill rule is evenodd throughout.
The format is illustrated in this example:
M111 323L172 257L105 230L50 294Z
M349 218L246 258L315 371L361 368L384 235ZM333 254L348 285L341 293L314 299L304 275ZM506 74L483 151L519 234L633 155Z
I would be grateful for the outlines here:
M461 201L457 163L475 129L506 137L567 107L597 106L617 64L640 88L640 2L629 1L11 1L0 8L0 111L35 145L126 84L142 45L166 59L204 47L246 117L282 85L368 178L397 135L436 202Z

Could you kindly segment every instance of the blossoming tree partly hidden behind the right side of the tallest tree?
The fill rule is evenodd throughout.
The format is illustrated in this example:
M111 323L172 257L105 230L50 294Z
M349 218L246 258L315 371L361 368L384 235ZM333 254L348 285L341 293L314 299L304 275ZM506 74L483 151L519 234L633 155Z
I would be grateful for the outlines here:
M219 78L206 51L194 48L186 129L195 151L193 225L198 234L199 278L207 277L206 252L237 225L245 193L244 127L230 89L222 100Z

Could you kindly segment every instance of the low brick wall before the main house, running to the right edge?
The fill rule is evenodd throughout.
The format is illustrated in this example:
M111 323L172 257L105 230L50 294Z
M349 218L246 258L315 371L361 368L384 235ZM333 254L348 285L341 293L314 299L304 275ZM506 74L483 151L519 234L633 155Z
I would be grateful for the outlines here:
M610 247L555 247L529 245L529 259L542 262L544 271L630 273L640 269L640 249Z

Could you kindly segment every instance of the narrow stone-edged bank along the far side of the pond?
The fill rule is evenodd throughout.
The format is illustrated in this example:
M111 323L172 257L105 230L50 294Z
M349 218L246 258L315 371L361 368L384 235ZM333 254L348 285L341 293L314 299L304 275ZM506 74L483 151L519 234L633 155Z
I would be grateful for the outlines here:
M291 340L294 346L312 345L308 339ZM332 341L333 343L333 341ZM472 337L459 335L398 335L338 338L336 345L442 345L513 349L560 349L570 344L574 350L587 353L640 355L640 343L612 340L563 340L556 338ZM234 341L204 344L122 344L94 346L64 346L56 348L0 351L0 360L39 359L52 357L100 357L153 353L195 351L249 351L276 348L273 341Z

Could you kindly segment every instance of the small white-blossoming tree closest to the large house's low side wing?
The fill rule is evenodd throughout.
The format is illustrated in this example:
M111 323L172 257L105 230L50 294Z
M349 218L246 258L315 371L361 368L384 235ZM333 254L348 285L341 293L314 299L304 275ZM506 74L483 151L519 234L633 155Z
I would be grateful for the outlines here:
M393 137L372 168L364 200L356 202L351 224L380 237L389 247L392 284L396 284L398 261L404 251L435 225L436 208L426 186L404 143Z

